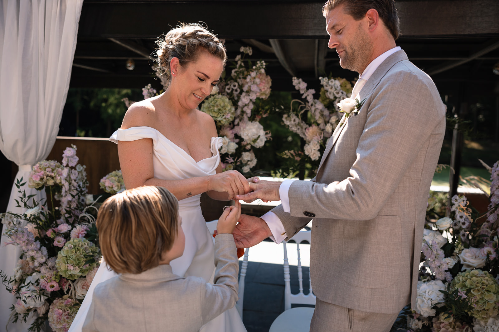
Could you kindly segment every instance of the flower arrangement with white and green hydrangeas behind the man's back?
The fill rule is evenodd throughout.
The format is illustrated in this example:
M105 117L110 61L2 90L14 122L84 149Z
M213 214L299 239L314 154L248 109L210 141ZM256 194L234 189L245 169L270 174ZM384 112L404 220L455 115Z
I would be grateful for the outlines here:
M409 331L499 331L499 161L488 169L485 214L475 216L467 198L455 195L449 217L427 221Z

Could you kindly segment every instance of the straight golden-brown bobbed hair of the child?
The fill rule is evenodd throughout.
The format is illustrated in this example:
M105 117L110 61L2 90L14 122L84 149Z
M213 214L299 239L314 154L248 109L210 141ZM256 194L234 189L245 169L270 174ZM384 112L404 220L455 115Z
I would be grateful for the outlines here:
M97 216L107 265L134 274L158 266L177 236L178 210L177 199L163 187L138 187L108 198Z

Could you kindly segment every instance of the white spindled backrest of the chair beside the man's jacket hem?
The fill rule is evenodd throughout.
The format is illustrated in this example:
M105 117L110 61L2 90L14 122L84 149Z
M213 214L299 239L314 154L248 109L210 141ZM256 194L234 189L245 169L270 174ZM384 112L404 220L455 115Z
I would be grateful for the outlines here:
M308 294L303 293L303 269L301 267L301 257L300 257L300 243L302 241L310 242L310 230L301 230L297 232L292 238L288 240L296 242L296 251L298 257L298 284L299 292L297 294L291 294L291 276L289 273L289 261L287 258L287 245L292 243L284 242L284 311L291 309L291 304L310 304L315 305L315 295L312 293L312 284L310 283L310 274L308 276Z

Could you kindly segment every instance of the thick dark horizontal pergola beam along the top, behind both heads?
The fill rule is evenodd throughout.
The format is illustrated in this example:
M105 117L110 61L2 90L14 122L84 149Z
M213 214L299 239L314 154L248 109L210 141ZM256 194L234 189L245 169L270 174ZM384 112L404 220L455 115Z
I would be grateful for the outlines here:
M204 21L221 38L325 38L324 0L86 0L79 37L156 38ZM499 36L497 0L398 0L405 38Z

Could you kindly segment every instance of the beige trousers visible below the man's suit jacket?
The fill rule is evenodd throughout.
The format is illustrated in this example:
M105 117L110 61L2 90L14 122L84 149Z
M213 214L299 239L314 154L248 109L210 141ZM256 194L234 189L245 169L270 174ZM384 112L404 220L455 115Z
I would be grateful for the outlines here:
M310 332L389 332L398 315L368 313L317 298Z

